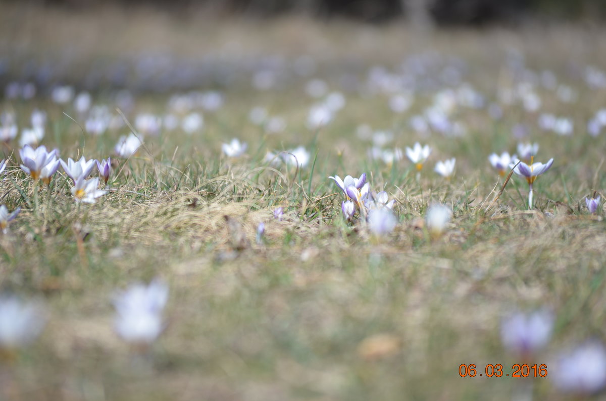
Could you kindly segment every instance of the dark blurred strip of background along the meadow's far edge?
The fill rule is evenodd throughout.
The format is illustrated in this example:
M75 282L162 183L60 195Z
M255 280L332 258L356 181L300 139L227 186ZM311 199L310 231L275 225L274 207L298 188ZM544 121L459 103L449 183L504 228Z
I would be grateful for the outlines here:
M606 15L606 0L37 0L28 3L72 10L144 5L184 15L192 11L255 17L305 13L314 18L352 18L375 23L405 17L439 25L514 23L527 18L599 20Z

